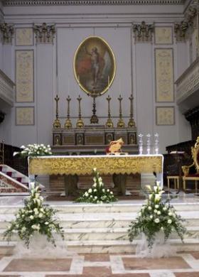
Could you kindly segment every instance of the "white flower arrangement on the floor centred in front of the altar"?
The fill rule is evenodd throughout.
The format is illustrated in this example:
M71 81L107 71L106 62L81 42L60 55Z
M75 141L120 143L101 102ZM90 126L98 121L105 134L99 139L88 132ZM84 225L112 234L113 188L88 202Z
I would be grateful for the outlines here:
M99 177L97 168L93 169L93 174L94 184L92 185L92 188L83 193L81 197L77 198L76 202L102 204L117 201L117 198L114 197L113 192L110 191L109 188L104 188L104 183L102 182L102 178Z

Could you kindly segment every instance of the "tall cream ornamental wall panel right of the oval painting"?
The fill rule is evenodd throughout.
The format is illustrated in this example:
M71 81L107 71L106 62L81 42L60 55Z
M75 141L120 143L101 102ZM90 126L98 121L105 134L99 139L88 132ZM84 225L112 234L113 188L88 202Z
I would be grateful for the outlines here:
M173 49L155 49L155 67L156 102L173 102Z

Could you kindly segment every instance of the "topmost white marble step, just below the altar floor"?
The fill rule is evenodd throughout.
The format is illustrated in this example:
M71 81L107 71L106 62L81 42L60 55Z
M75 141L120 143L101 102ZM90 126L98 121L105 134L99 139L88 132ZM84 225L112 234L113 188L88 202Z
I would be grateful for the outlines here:
M122 213L122 212L139 212L142 204L140 200L134 200L134 203L128 203L127 201L124 203L115 202L114 204L81 204L81 203L72 203L69 205L54 205L53 202L46 202L45 204L50 205L50 207L55 208L62 214L76 214L76 213L84 213L84 214L92 214L92 213ZM172 202L171 202L172 203ZM186 202L186 203L172 203L178 212L181 211L198 211L199 214L199 202ZM21 206L0 206L0 214L12 214L17 212L18 208ZM199 215L198 215L199 217Z

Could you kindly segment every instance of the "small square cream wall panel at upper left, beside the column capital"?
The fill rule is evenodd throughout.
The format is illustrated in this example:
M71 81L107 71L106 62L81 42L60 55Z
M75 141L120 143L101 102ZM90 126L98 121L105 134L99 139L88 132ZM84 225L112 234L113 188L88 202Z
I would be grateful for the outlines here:
M33 45L33 29L32 28L16 28L15 35L16 46Z

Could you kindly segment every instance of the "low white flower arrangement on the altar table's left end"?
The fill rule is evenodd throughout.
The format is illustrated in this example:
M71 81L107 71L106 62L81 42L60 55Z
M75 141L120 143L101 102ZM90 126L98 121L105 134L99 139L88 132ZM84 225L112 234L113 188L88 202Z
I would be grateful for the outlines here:
M14 152L14 156L20 155L21 157L33 157L33 156L47 156L52 155L50 145L44 144L28 144L27 146L21 146L21 152Z

